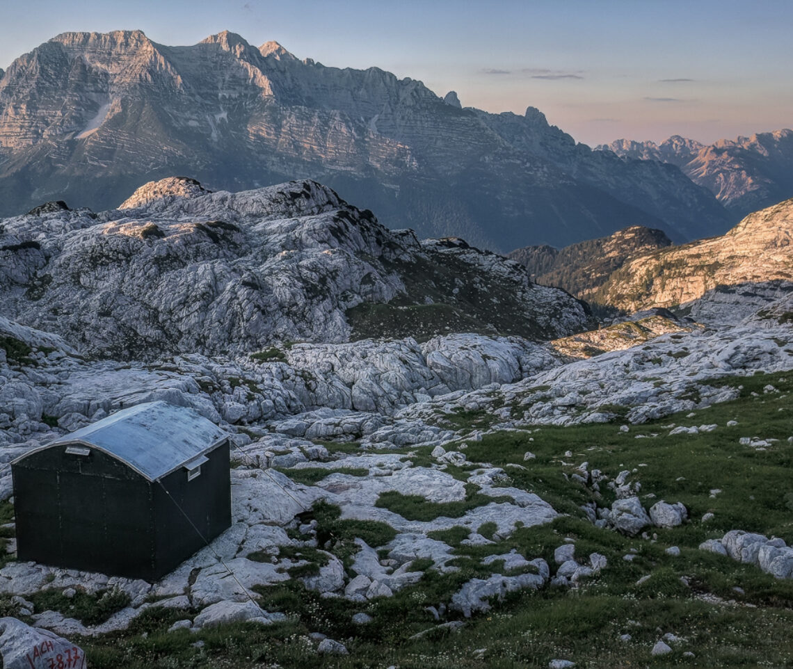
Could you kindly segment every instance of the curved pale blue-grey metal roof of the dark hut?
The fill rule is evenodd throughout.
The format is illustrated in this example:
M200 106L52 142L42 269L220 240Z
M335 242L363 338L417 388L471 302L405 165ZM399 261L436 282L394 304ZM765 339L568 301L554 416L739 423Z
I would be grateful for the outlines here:
M74 442L94 446L153 481L208 453L227 437L193 409L148 402L117 411L45 448Z

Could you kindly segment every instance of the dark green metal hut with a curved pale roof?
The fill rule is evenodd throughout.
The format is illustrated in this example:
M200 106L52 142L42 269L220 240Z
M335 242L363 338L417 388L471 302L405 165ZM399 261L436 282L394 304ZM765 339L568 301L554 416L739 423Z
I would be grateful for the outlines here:
M228 434L139 404L12 463L17 559L154 581L231 525Z

